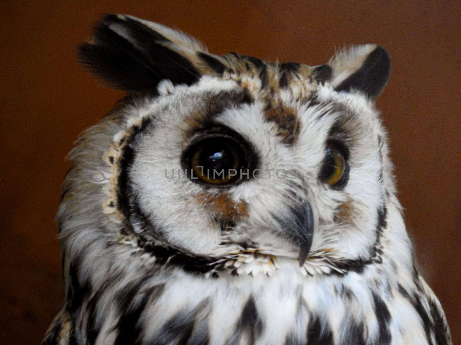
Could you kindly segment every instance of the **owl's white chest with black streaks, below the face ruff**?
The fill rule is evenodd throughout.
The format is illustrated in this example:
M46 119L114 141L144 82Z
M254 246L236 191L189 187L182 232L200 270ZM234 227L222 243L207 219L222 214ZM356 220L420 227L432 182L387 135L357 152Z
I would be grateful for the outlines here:
M386 277L305 277L287 271L272 277L210 280L179 274L156 279L134 294L113 295L120 302L112 299L106 315L118 328L117 335L108 334L115 343L427 342L420 316Z

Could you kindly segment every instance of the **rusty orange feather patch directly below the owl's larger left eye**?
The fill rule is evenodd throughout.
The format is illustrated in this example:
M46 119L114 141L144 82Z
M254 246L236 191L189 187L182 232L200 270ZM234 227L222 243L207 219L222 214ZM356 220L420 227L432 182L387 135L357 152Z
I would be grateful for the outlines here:
M194 199L196 203L212 212L216 218L225 222L236 222L248 217L248 204L245 201L236 203L228 193L218 195L201 193Z

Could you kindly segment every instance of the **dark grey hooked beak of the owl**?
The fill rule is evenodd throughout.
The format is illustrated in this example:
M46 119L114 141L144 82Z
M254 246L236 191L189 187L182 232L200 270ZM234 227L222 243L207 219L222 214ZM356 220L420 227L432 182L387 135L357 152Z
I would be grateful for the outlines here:
M312 247L314 235L314 217L311 204L304 200L296 207L292 207L292 221L289 230L299 245L299 266L306 262L307 256Z

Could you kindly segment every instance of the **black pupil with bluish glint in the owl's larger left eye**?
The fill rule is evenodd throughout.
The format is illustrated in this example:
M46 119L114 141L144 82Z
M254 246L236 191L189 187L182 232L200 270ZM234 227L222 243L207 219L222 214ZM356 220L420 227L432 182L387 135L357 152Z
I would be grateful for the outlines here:
M203 173L209 178L220 179L229 176L229 170L235 169L233 149L229 144L212 140L200 155ZM224 170L224 174L222 173ZM213 175L214 173L214 175ZM219 176L218 176L219 173Z

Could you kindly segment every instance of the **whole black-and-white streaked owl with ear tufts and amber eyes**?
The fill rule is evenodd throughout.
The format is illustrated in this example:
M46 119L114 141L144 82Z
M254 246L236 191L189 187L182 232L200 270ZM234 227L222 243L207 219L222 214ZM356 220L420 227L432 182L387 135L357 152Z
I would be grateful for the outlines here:
M374 105L384 48L266 63L109 14L79 59L127 96L70 153L43 344L452 344Z

